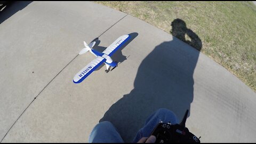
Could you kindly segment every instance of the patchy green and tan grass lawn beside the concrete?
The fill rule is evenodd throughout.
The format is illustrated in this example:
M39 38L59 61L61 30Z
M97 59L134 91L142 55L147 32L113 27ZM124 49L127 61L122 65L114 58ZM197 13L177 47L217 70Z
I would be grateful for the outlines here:
M183 20L202 40L202 53L256 92L256 6L252 2L95 3L130 14L169 34L172 21ZM188 43L189 37L181 40Z

